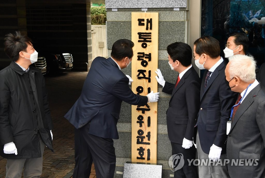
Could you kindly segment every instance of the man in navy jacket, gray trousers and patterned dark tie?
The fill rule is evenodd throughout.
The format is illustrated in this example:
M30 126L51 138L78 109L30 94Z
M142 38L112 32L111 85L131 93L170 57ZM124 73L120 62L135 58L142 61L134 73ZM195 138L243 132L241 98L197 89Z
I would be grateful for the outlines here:
M217 39L204 36L194 42L193 58L199 69L207 69L201 83L200 110L196 123L198 159L219 161L226 158L226 124L237 95L226 81L226 62L220 57ZM207 160L208 162L210 160ZM214 162L213 162L214 163ZM227 167L211 163L199 165L199 177L228 177ZM216 164L216 163L215 163Z

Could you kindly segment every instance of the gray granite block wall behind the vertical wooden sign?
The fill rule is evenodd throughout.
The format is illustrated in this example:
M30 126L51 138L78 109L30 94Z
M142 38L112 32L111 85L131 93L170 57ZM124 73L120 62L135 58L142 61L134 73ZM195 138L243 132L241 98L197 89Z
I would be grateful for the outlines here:
M128 1L127 1L128 2ZM131 1L130 1L131 2ZM147 1L150 4L153 2L152 8L148 8L147 12L159 13L159 34L158 34L158 67L160 68L164 79L168 82L175 83L177 73L170 69L167 59L166 47L173 42L188 41L188 5L186 1L174 1L168 7L167 2L155 3L155 0ZM172 2L172 1L171 1ZM183 4L184 2L184 4ZM143 12L141 8L131 8L139 5L138 1L132 1L129 5L120 4L123 1L106 0L107 8L107 47L108 56L110 56L112 44L122 38L131 39L131 12ZM159 8L157 6L163 6ZM130 8L117 8L130 7ZM178 11L174 7L180 7ZM117 11L112 11L112 8L117 8ZM131 68L122 69L125 74L131 75ZM170 95L163 93L162 87L159 85L160 99L158 101L158 135L157 135L157 163L163 164L162 177L170 177L174 172L170 170L168 165L169 157L171 156L171 144L167 135L166 127L166 110L168 108ZM131 161L131 105L123 102L121 108L120 119L117 124L120 139L114 140L116 150L116 171L114 177L122 177L120 172L123 172L123 166L126 161ZM117 173L118 171L118 173Z

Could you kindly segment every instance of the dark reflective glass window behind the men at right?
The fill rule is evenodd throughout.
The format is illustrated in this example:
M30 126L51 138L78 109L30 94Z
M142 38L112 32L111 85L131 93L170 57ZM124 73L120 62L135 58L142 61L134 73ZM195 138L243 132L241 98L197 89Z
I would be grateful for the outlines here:
M224 58L229 35L246 33L249 49L258 67L265 61L265 1L264 0L201 0L201 36L218 39Z

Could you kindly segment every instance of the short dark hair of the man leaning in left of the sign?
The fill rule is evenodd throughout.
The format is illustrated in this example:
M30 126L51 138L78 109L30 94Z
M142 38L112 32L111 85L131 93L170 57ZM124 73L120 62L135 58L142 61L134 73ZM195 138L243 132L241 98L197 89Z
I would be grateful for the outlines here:
M112 45L111 57L121 61L125 57L133 57L134 43L129 39L119 39Z

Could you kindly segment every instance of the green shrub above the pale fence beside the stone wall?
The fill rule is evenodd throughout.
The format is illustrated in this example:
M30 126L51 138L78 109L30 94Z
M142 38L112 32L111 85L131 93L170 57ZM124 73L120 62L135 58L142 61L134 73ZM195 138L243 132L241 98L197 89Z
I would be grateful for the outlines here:
M91 25L106 25L107 12L104 7L91 7Z

